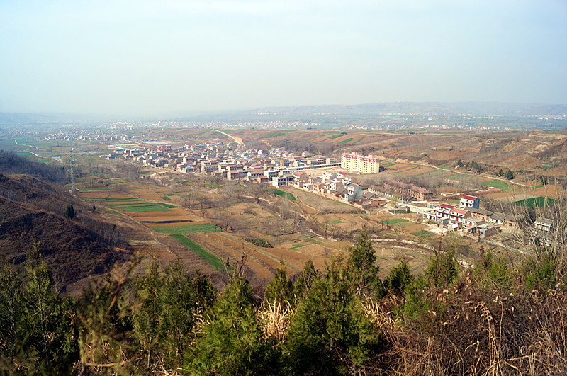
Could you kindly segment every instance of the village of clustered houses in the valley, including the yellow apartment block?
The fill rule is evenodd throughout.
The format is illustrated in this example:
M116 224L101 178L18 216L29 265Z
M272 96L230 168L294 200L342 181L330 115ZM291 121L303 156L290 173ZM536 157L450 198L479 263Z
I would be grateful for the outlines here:
M522 215L481 209L480 199L475 195L459 195L459 204L451 205L444 202L447 198L436 197L432 191L410 183L383 180L361 186L357 183L361 174L379 173L384 169L378 157L361 156L356 152L342 154L341 161L337 161L309 152L245 149L242 144L223 142L172 147L164 142L146 141L111 147L115 150L104 155L106 159L125 158L145 166L208 174L228 181L293 186L353 205L369 214L381 208L391 213L415 212L438 234L456 231L485 238L498 234L501 227L517 227L522 220Z

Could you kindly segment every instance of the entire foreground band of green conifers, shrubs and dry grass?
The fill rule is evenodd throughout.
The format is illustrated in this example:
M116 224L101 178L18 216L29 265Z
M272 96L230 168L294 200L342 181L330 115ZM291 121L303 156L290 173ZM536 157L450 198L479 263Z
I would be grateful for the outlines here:
M378 278L366 234L295 283L281 266L263 297L236 265L218 292L180 262L109 275L78 300L55 291L38 249L0 272L3 374L508 375L567 371L567 279L546 249L509 268L461 268L439 250L423 275Z

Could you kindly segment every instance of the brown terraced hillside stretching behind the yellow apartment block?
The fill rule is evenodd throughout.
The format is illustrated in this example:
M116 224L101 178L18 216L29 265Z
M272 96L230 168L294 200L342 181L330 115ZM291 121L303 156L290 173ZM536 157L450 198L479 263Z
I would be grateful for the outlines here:
M378 132L370 130L237 130L231 135L256 146L286 147L321 154L357 151L389 159L436 165L474 160L504 169L539 169L567 162L566 132Z

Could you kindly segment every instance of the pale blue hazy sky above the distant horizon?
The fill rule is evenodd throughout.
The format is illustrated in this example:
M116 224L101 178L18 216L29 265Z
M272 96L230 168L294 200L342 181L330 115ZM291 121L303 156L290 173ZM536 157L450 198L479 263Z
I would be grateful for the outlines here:
M0 0L0 112L567 103L567 1Z

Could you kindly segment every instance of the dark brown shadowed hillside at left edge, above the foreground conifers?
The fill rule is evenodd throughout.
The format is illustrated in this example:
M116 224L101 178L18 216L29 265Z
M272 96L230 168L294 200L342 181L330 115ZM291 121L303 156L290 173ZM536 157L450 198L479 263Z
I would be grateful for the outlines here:
M73 220L63 215L69 203L77 211ZM79 214L86 210L77 199L36 178L0 174L1 255L21 265L37 241L41 258L63 290L89 275L106 273L128 255L92 230L92 215Z

